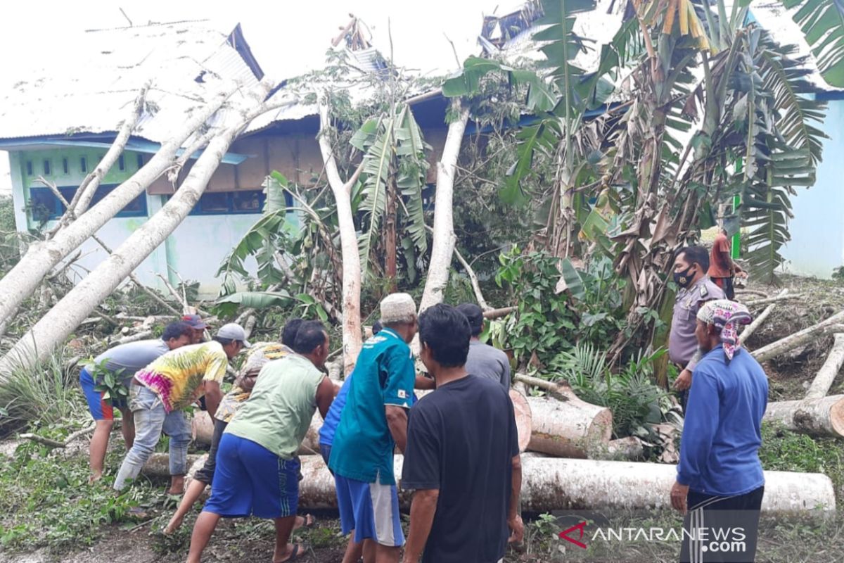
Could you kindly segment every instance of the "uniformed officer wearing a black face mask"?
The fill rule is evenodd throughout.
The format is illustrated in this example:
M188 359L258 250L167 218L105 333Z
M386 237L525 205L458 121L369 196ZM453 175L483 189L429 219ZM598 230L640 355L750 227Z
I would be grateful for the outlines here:
M697 311L706 301L726 297L723 290L706 276L708 269L709 252L703 246L685 246L674 255L674 283L679 290L668 336L668 357L680 370L674 389L680 392L680 405L684 411L691 374L701 358L695 338Z

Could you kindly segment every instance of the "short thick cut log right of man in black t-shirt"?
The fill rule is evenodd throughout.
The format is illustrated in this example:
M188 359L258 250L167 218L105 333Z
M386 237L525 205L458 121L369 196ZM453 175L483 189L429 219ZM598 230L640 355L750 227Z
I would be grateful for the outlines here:
M528 450L559 457L588 457L606 451L613 431L613 414L577 398L566 401L549 397L527 399L533 414Z

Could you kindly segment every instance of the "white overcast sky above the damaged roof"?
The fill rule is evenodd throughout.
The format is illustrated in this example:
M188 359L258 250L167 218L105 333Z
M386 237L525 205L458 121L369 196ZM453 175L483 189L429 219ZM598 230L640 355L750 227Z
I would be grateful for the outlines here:
M445 73L478 51L475 38L484 14L501 14L520 0L306 0L291 2L214 2L205 0L56 0L6 3L0 33L0 88L25 79L30 68L49 67L51 54L72 48L73 37L89 29L181 19L214 19L234 28L241 23L246 41L264 71L286 78L316 68L349 13L371 29L372 43L395 62L420 73ZM446 39L446 37L448 39ZM454 42L454 49L448 40ZM0 191L7 192L8 158L0 151Z

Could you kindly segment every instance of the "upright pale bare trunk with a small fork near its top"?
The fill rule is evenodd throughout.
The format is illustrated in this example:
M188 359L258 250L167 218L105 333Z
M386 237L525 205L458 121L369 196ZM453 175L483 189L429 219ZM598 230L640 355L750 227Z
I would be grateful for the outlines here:
M319 115L319 148L322 153L322 161L325 163L328 185L331 187L334 202L337 204L340 247L343 253L343 360L344 374L348 376L354 370L354 362L360 354L360 347L363 345L360 331L360 253L358 252L358 238L355 235L352 203L349 196L354 181L360 175L360 167L348 182L340 179L337 160L334 158L331 140L328 138L331 118L327 100L321 100Z

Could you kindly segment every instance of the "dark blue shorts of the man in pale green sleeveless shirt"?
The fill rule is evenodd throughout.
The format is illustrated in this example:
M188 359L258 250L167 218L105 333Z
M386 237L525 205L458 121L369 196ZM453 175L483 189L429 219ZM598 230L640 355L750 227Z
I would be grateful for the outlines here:
M225 433L203 511L229 518L295 516L299 467L296 458L282 459L254 441Z

